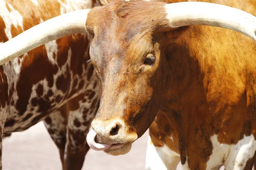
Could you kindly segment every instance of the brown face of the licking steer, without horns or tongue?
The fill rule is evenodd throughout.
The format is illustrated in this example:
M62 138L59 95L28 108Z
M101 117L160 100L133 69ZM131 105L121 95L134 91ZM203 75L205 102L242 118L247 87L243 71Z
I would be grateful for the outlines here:
M94 34L90 57L101 101L92 128L96 142L115 144L105 150L112 155L127 153L145 133L169 89L166 44L159 31L167 30L169 22L161 8L143 4L115 3L95 10L93 15L99 17L87 19L87 29ZM140 16L143 10L147 15Z

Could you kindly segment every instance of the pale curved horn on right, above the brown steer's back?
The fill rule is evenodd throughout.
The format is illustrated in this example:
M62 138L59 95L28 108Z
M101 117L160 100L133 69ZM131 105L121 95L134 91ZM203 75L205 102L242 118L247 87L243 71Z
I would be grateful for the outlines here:
M217 26L238 31L256 41L256 17L237 8L204 2L171 3L165 8L171 28Z

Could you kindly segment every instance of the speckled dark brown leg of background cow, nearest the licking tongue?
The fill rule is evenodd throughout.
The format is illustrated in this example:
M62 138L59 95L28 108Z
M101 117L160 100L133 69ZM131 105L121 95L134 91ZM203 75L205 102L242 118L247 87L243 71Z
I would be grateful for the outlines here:
M81 170L83 166L84 156L89 150L86 135L95 116L98 100L98 95L83 94L67 103L69 117L64 170Z

